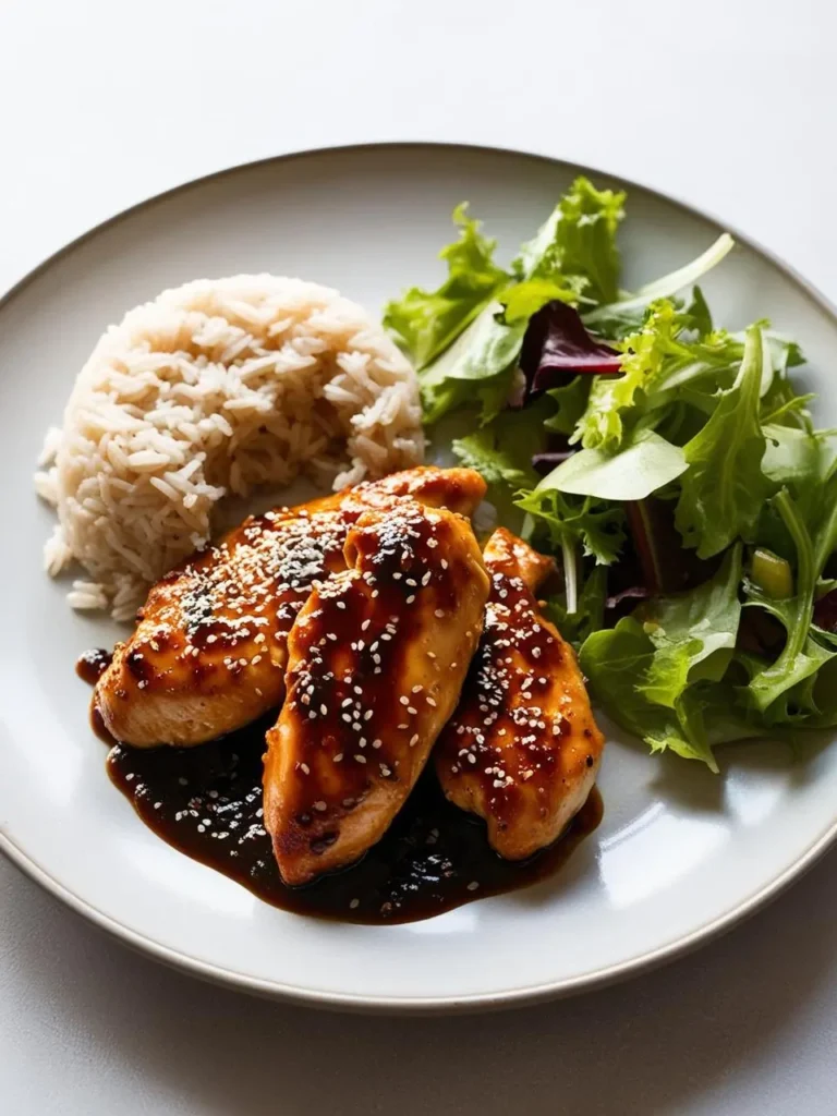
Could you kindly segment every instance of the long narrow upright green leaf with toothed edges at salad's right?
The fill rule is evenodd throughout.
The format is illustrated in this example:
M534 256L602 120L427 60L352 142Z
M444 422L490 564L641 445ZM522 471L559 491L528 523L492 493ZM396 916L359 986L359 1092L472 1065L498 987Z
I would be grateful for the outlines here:
M761 470L761 329L751 326L735 384L720 393L705 426L683 448L689 469L675 522L684 546L696 547L700 558L711 558L737 538L751 540L761 504L775 490Z

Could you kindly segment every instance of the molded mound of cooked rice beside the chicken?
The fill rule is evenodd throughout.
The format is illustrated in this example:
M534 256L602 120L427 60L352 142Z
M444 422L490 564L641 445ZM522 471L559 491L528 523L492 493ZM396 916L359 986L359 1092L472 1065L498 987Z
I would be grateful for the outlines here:
M300 279L201 279L131 310L79 373L35 478L59 520L45 565L80 562L73 607L127 619L225 493L302 469L339 489L423 452L415 373L359 306Z

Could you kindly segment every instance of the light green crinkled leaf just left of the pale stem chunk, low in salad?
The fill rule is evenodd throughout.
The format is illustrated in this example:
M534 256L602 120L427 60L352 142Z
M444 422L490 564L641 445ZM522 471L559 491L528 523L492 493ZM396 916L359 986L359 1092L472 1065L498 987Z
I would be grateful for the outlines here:
M732 657L741 617L741 545L732 547L709 581L690 593L660 597L634 614L654 645L641 690L657 705L676 709L698 677L720 682Z

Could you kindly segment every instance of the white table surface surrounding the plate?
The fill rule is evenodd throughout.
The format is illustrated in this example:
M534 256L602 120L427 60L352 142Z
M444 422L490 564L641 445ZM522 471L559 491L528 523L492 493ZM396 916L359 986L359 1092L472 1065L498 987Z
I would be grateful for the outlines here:
M829 0L2 0L0 288L221 166L396 138L635 177L837 301L835 31ZM620 987L392 1021L170 972L0 860L0 1112L830 1116L836 868Z

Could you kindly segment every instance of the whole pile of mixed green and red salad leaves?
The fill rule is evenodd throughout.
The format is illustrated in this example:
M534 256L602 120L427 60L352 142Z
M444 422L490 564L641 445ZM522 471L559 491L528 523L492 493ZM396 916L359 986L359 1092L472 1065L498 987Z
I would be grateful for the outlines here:
M695 283L729 235L622 289L624 202L578 179L508 267L459 205L446 279L384 320L426 424L470 415L456 456L559 559L548 608L595 700L716 771L716 744L837 724L837 432L793 341L713 325Z

